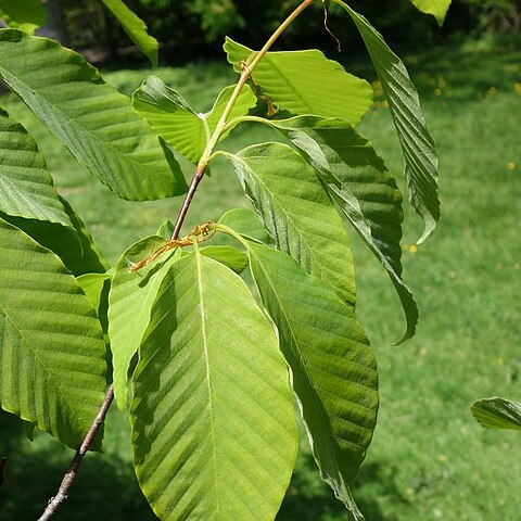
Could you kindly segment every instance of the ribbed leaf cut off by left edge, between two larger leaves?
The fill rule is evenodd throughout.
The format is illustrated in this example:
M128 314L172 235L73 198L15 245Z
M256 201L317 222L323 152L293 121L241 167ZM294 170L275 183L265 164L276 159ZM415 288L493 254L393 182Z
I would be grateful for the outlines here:
M35 140L1 109L0 155L0 212L71 226Z

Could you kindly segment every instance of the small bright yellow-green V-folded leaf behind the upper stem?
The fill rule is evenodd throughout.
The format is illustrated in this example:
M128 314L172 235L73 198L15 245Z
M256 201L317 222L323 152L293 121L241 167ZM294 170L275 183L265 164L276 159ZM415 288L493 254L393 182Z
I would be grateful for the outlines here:
M234 86L224 89L212 111L199 114L181 94L167 87L160 78L150 76L136 90L132 102L138 114L144 117L167 143L195 164L203 155L206 141L217 127L233 89ZM243 116L255 104L256 98L245 86L233 105L229 119ZM229 131L220 139L225 139L228 134Z

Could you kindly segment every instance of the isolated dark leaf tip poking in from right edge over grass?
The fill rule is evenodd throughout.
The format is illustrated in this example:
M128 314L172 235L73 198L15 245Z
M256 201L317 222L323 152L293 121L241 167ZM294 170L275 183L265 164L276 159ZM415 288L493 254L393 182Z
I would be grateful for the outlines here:
M505 398L484 398L470 407L472 416L485 429L521 431L521 404Z

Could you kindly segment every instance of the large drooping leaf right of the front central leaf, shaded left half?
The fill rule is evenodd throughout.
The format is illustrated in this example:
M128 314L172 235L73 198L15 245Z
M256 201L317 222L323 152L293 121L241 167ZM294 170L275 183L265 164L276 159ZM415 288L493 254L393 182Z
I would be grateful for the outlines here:
M250 243L250 267L279 330L322 479L353 513L354 485L377 421L374 355L352 310L288 255Z

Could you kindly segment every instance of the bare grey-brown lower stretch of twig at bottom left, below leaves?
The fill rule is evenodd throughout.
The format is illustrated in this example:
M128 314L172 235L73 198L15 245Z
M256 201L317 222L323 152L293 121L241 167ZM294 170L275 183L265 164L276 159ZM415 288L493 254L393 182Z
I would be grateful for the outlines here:
M96 434L98 433L101 424L105 420L106 412L109 411L109 407L111 406L113 399L114 399L114 387L111 384L111 386L106 391L105 399L103 401L103 404L101 405L101 408L98 411L98 415L96 416L94 421L92 422L92 425L89 429L89 432L87 433L84 441L81 442L81 445L76 452L76 455L74 456L73 461L71 462L71 467L68 468L67 472L63 476L58 494L50 499L45 512L41 514L38 521L46 521L48 519L51 519L51 517L55 513L60 505L63 501L65 501L65 499L67 499L68 491L71 490L71 486L73 486L73 483L76 480L76 476L78 475L79 465L81 463L81 460L84 459L84 456L87 454L87 450L89 449L90 445L94 441Z

